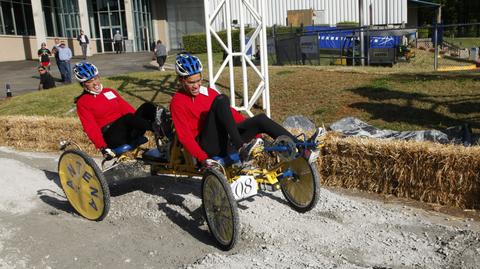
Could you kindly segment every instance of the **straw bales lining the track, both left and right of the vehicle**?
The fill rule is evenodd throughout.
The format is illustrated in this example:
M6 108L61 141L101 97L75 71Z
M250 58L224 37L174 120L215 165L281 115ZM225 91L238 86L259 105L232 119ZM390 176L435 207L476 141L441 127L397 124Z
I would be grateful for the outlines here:
M98 155L77 118L0 117L0 131L3 146L57 151L59 141L70 140ZM149 140L146 146L155 146ZM329 133L318 167L322 185L480 208L480 147L342 138Z

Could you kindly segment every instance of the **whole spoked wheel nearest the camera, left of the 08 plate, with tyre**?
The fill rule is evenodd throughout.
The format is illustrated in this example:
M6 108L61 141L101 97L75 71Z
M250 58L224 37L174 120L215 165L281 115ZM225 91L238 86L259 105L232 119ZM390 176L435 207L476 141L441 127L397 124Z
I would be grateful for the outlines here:
M213 169L204 173L202 202L208 228L220 248L232 249L238 239L240 221L237 202L222 173Z

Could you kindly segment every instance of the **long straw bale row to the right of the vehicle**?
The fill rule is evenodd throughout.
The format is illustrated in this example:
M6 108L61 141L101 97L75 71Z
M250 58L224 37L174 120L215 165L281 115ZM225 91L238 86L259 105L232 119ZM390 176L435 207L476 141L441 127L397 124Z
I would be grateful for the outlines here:
M480 208L480 148L329 136L322 183L429 203Z

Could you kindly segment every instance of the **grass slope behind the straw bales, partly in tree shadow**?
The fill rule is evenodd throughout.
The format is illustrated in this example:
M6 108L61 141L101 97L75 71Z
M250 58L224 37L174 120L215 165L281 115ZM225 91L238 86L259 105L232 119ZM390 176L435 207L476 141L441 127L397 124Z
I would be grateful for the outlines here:
M355 116L395 130L443 129L463 123L480 129L480 74L352 70L271 67L272 117L282 121L290 115L305 115L320 125ZM255 74L251 75L250 94L258 83ZM241 105L240 74L235 80L236 104ZM134 107L145 101L168 106L177 89L174 72L131 73L102 78L102 82L105 87L118 89ZM228 73L217 85L229 94ZM78 84L73 84L1 100L0 115L75 116L73 100L81 91ZM260 110L257 107L255 111Z

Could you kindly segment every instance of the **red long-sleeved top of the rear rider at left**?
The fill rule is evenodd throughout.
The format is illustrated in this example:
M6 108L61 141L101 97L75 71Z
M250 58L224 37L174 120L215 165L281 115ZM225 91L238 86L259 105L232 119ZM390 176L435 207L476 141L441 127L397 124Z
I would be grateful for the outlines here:
M101 128L129 113L135 113L135 109L114 89L104 88L97 95L86 93L77 100L83 130L97 149L107 147Z

